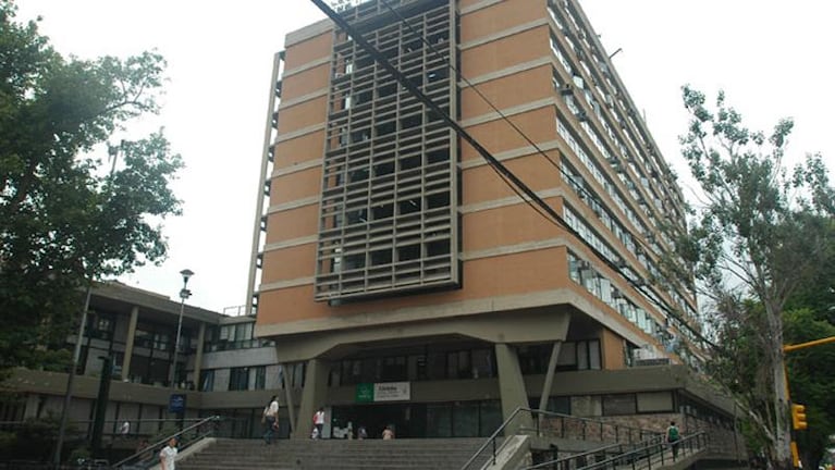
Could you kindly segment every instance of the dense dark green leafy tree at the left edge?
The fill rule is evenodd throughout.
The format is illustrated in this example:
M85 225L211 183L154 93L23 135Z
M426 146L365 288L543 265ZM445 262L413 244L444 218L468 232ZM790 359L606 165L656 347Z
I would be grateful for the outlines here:
M158 111L159 54L67 59L15 13L0 0L0 371L65 366L84 287L163 259L182 165L161 132L123 141L113 170L89 157Z

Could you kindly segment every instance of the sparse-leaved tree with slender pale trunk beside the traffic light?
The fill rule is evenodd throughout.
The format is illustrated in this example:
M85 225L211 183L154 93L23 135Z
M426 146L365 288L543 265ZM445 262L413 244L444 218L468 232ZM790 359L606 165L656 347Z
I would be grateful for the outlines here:
M702 200L693 208L689 233L675 234L676 251L688 263L684 272L695 274L699 294L709 300L719 337L742 333L739 336L759 348L758 356L749 358L756 362L746 366L758 386L738 396L770 443L775 466L788 468L783 311L831 246L827 226L835 191L820 154L785 169L790 120L779 121L766 136L746 128L741 115L726 106L724 94L712 110L702 92L690 87L683 91L690 113L688 132L680 138L683 154ZM717 354L728 359L734 348ZM717 379L730 380L725 385L734 389L738 376Z

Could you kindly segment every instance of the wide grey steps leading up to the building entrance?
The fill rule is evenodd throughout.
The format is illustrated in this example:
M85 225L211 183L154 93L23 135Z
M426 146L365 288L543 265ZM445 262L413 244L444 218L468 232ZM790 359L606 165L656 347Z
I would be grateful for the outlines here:
M261 440L219 438L177 461L177 470L458 470L486 438ZM487 458L487 457L484 457ZM483 463L483 462L482 462ZM470 468L481 468L474 465Z

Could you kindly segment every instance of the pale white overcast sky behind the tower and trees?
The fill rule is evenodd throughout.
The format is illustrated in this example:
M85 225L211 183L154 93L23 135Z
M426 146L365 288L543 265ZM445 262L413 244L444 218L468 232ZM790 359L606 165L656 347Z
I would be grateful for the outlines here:
M179 272L188 268L196 273L189 304L218 311L243 305L272 55L287 32L322 13L308 0L19 0L19 20L42 16L41 33L64 54L91 59L157 49L165 57L170 82L163 111L132 128L164 126L183 156L186 169L174 188L184 214L165 222L169 259L121 281L177 298ZM687 174L677 143L687 125L684 84L711 97L724 89L754 128L770 131L779 118L794 118L795 159L806 152L835 159L834 3L582 0L581 5L607 52L622 48L615 67L679 175Z

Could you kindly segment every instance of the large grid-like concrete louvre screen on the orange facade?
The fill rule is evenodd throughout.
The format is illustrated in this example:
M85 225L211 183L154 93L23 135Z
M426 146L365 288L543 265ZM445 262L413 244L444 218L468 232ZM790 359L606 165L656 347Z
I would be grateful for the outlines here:
M343 15L457 116L445 62L456 63L454 2L398 4L412 28L377 0L358 8L363 15ZM458 286L457 137L344 32L334 35L316 299Z

